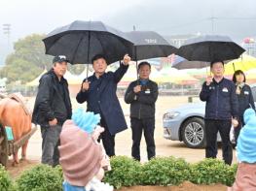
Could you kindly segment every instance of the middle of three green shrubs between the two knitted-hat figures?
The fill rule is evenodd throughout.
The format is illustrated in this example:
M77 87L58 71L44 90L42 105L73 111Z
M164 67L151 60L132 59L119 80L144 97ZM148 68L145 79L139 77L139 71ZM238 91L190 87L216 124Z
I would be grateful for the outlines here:
M189 178L190 165L184 159L161 157L145 163L142 172L143 184L177 185Z

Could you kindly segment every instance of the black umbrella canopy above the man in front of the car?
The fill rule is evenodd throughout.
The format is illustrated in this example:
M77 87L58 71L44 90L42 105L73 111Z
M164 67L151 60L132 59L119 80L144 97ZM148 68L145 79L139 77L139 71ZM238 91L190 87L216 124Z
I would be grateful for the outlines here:
M236 59L244 51L227 36L205 35L186 41L177 54L190 61L211 62Z

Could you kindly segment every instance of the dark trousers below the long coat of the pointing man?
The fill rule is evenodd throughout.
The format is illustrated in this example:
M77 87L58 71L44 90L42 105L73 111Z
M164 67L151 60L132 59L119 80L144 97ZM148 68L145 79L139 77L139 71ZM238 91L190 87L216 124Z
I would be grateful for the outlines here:
M108 126L106 124L106 121L104 118L101 116L100 120L100 126L105 129L103 133L101 133L98 142L102 140L103 146L105 148L106 154L111 157L115 156L115 135L111 135Z

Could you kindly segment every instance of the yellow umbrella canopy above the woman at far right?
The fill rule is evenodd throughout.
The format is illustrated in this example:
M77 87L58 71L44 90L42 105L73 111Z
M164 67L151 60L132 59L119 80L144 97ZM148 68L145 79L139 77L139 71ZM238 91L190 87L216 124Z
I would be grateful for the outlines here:
M246 72L251 69L256 69L256 58L250 55L242 55L241 58L232 60L225 65L225 74L233 75L237 70Z

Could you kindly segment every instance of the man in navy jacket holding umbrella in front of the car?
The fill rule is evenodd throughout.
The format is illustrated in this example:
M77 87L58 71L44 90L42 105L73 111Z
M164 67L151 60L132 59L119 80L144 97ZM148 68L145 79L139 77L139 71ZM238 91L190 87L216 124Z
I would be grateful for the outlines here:
M233 159L230 130L232 122L238 125L238 97L235 83L227 80L224 75L224 62L213 61L210 64L213 79L208 77L202 84L200 93L201 101L206 102L205 107L205 133L206 133L206 158L216 158L217 133L222 139L223 159L231 165Z

